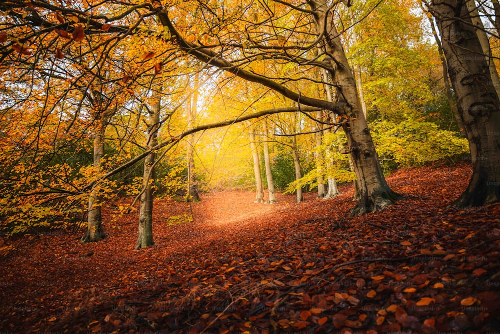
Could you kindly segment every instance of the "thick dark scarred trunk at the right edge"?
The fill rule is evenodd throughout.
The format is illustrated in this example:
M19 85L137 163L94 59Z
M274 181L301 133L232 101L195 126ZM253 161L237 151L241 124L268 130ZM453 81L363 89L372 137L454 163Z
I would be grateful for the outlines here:
M459 207L500 201L500 100L494 89L466 0L433 0L434 15L458 114L470 147L472 177L454 202Z

